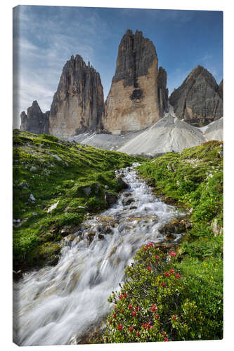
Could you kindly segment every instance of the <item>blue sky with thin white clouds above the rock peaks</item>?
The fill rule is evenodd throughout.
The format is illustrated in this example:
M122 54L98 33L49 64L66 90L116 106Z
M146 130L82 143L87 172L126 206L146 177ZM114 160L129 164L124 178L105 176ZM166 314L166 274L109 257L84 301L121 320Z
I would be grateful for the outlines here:
M105 98L115 74L119 41L126 29L148 37L159 67L167 70L169 93L202 65L217 83L223 78L223 13L124 8L19 6L13 15L18 85L13 92L15 125L19 114L37 100L49 110L60 74L71 55L82 55L100 73Z

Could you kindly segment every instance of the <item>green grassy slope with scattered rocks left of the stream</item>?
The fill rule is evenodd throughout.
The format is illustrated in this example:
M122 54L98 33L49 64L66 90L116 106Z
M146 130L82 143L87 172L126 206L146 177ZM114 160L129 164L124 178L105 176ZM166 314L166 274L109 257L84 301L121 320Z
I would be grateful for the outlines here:
M15 270L56 263L61 239L122 190L115 170L139 160L53 135L13 131Z

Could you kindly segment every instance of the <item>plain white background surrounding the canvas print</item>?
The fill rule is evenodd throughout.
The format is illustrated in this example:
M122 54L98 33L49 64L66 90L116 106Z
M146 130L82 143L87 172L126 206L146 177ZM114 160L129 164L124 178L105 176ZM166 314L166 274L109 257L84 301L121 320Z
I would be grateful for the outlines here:
M189 4L188 4L189 2ZM224 220L224 296L225 296L225 319L224 319L224 338L216 341L196 341L196 342L174 342L174 343L148 343L148 344L116 344L116 345L69 345L69 346L50 346L50 347L27 347L27 350L233 350L233 46L234 46L234 11L232 1L216 0L196 0L196 1L138 1L138 0L54 0L54 1L11 1L8 0L1 4L1 53L0 53L0 86L1 86L1 105L0 105L0 143L1 143L1 208L0 208L0 347L2 350L15 350L18 346L12 343L12 190L11 190L11 133L12 133L12 8L19 4L22 5L57 5L57 6L99 6L99 7L126 7L126 8L163 8L180 10L213 10L224 11L224 150L225 150L225 220ZM25 349L25 347L22 347ZM25 349L26 350L26 349Z

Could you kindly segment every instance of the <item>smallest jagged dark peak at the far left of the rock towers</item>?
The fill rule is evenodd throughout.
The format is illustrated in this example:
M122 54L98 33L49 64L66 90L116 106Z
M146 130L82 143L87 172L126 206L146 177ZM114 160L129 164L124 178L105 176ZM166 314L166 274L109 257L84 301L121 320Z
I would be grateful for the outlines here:
M32 106L27 109L27 114L23 111L20 114L22 131L29 131L35 134L48 134L49 111L41 112L41 109L35 100Z

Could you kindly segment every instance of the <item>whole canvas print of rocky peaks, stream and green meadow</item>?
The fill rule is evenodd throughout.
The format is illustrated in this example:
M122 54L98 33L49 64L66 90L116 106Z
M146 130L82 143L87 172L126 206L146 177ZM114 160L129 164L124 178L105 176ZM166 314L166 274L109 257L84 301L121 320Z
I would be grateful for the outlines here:
M13 8L13 342L223 338L223 13Z

